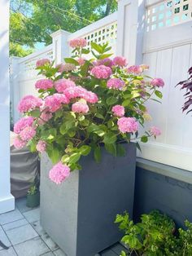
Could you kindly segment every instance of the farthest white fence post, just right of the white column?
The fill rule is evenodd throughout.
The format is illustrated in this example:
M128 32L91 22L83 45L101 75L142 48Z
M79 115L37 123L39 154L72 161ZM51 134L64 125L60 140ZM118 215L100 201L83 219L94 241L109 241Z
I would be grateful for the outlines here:
M10 58L10 98L11 98L11 116L13 123L20 119L20 113L17 110L17 106L20 101L20 57Z

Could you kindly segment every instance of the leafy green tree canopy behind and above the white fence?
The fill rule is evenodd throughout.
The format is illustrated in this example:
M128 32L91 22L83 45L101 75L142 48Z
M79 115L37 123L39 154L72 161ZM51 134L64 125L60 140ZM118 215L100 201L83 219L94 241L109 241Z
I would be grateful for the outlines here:
M37 43L50 44L50 33L75 32L116 8L116 0L11 0L10 54L28 55Z

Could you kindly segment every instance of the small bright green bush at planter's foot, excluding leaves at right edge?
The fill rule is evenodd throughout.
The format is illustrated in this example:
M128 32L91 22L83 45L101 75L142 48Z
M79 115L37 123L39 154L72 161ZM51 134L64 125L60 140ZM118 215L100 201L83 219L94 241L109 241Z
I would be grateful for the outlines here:
M115 223L125 232L121 239L129 246L129 255L163 256L165 241L172 237L175 223L171 218L154 210L150 214L142 214L140 223L133 223L129 214L117 214ZM121 256L125 256L121 252Z

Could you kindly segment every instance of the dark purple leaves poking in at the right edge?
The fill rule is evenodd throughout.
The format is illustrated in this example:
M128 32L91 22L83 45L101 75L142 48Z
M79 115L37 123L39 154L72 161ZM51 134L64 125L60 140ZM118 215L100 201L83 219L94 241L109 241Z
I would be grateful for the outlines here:
M182 110L183 112L187 111L187 113L190 113L192 111L192 108L190 108L192 106L192 67L190 67L188 73L190 74L190 77L185 81L179 82L177 86L181 86L181 90L186 91L184 95L185 104L183 105Z

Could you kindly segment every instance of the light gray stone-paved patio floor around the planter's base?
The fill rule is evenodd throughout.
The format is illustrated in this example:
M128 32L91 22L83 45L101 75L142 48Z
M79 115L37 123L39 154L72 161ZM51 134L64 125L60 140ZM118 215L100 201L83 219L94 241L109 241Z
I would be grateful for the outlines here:
M9 247L0 246L0 256L67 256L43 231L39 213L39 208L28 208L26 199L20 198L15 201L14 211L0 214L0 241ZM122 249L124 247L117 243L99 255L120 255Z

